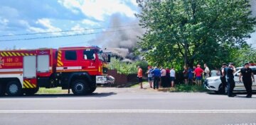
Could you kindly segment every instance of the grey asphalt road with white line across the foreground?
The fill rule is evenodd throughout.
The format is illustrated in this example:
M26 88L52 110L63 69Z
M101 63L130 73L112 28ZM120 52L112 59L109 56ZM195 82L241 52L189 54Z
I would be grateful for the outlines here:
M100 88L93 95L1 97L0 125L256 124L256 95Z

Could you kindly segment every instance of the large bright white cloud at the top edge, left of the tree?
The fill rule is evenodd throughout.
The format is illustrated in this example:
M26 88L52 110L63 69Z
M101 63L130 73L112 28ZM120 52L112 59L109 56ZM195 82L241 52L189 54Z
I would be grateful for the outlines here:
M114 13L134 18L136 13L121 0L58 0L58 2L73 13L81 11L85 16L96 20L104 20L105 16L111 16Z

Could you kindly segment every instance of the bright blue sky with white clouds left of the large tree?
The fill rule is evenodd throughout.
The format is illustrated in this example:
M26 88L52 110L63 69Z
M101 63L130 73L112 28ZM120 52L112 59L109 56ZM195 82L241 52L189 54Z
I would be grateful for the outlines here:
M253 16L256 16L256 1L252 0L251 4ZM0 49L90 45L101 47L103 44L108 44L109 40L106 40L107 36L103 37L105 40L98 39L100 32L110 32L110 34L117 32L117 28L113 28L112 25L112 21L115 20L113 18L119 20L118 25L114 25L115 27L124 26L119 29L132 33L134 30L129 29L136 28L137 18L134 13L138 13L138 11L136 0L1 0ZM75 30L75 32L59 32L65 30ZM52 33L21 35L37 32ZM58 37L77 34L86 35ZM25 40L38 37L55 38ZM256 32L252 33L252 38L247 42L255 44L255 41ZM110 44L113 43L110 42Z

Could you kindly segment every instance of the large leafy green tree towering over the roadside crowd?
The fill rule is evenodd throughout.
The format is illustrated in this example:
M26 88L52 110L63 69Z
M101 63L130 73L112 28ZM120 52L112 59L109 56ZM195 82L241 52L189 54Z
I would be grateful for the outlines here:
M229 50L246 44L254 32L248 0L137 1L142 56L155 66L229 60ZM168 63L168 64L167 64Z

